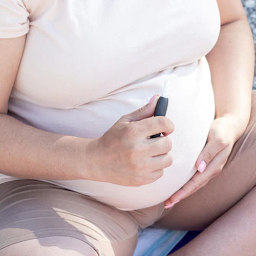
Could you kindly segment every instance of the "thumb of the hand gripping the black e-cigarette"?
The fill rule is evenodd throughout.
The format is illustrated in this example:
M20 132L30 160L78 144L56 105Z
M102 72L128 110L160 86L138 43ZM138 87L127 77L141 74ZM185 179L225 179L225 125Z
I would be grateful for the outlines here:
M139 121L147 117L152 117L155 112L158 98L159 98L159 94L154 95L151 98L151 102L148 102L147 104L145 104L138 110L135 110L134 112L124 115L122 117L122 120L131 122L131 121Z

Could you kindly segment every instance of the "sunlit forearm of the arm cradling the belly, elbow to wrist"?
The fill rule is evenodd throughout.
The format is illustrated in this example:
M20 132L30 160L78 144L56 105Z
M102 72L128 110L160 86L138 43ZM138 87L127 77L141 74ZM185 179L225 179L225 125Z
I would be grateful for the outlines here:
M254 45L247 19L222 25L217 44L206 58L215 94L216 118L235 114L241 118L241 130L245 129L250 117L254 73Z

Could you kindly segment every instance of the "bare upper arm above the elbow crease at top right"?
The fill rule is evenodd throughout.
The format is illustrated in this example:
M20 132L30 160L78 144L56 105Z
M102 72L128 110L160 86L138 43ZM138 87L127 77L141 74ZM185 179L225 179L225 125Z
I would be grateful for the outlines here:
M217 0L221 25L247 18L241 0Z

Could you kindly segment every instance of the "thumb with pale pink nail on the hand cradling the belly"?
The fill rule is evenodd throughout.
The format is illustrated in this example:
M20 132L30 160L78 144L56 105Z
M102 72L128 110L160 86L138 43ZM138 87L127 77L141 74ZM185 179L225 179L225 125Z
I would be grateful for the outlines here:
M221 151L221 148L214 140L210 140L204 146L202 152L200 153L197 161L196 168L200 173L204 172L207 164L214 159L214 157Z

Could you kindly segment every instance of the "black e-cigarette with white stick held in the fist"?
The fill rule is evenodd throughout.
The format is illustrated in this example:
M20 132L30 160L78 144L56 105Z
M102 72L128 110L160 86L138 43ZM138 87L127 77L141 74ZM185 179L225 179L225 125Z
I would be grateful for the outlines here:
M159 97L156 105L156 109L154 112L154 116L165 116L167 106L168 106L168 96L169 96L169 87L170 87L170 81L165 80L164 81L164 87L162 95ZM150 138L156 138L159 137L161 133L151 135Z

